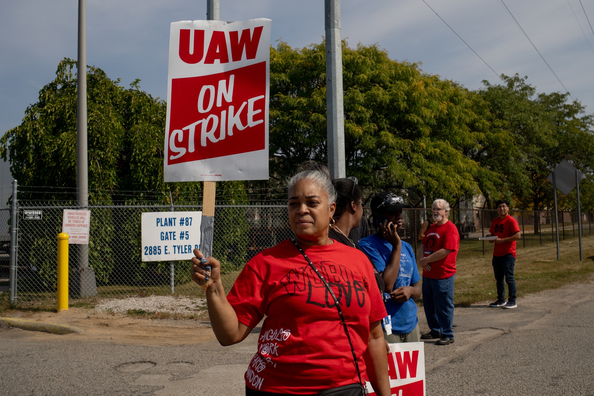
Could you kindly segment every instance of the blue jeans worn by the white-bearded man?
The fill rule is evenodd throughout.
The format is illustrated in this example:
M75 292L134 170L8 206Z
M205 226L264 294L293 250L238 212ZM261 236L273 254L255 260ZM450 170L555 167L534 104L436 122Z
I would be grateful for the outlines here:
M432 279L423 277L423 308L431 332L454 338L454 277Z

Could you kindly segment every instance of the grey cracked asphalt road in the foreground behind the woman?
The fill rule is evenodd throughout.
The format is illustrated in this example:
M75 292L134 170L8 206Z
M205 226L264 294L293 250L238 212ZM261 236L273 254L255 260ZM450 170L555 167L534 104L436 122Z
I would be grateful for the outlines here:
M518 305L457 308L456 342L425 343L427 394L594 395L594 284ZM182 344L142 345L2 328L0 395L244 394L257 334L221 347L206 331Z

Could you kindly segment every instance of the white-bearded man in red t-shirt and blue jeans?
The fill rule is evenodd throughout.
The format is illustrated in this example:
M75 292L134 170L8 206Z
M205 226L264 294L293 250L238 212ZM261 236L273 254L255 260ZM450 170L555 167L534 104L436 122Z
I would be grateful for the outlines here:
M432 205L433 221L421 242L418 263L423 268L423 308L429 332L422 340L440 338L435 344L454 342L454 275L456 255L460 247L457 227L448 220L450 204L435 199Z

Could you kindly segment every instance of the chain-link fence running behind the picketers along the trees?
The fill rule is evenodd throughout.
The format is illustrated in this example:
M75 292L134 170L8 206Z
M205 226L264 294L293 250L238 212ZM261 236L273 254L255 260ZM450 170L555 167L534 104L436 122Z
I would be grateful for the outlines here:
M15 204L14 218L11 218L11 207L0 208L0 224L15 224L17 230L14 298L17 302L55 299L56 236L62 231L62 213L64 209L80 208L59 205L59 202L20 201ZM190 279L189 261L176 261L173 270L169 261L141 261L141 213L201 210L200 205L90 205L88 209L91 211L89 265L94 270L97 296L203 295L201 288ZM41 211L42 215L40 219L30 219L24 216L25 211ZM369 208L365 208L365 217L369 214ZM519 248L554 243L554 214L550 211L510 211L510 215L518 220L522 230L522 240L517 242ZM413 208L405 209L404 216L405 225L399 234L416 252L420 243L417 239L419 229L431 213ZM561 239L577 236L576 216L573 212L560 212ZM584 235L591 235L592 214L582 216ZM489 235L489 226L495 217L494 210L450 211L450 220L456 224L463 239ZM250 258L293 235L287 222L285 205L216 205L213 256L222 263L226 290ZM5 228L0 227L0 287L4 290L11 284L8 277L12 264L12 229ZM373 226L369 226L369 232L375 232ZM473 243L476 252L482 250L484 254L484 243L478 240ZM69 248L71 297L74 298L78 297L75 287L78 249L80 245L70 245Z

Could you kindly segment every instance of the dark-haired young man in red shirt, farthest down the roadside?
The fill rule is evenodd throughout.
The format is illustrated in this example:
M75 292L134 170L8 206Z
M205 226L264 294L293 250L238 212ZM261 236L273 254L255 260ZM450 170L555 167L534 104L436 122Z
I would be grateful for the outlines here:
M497 236L493 249L493 271L497 282L497 301L489 304L492 307L517 308L516 305L516 280L514 279L514 265L516 265L516 240L520 239L520 226L515 218L509 215L510 207L503 199L495 202L499 217L491 222L489 232ZM505 282L509 298L505 303Z

